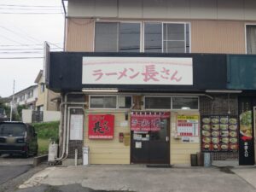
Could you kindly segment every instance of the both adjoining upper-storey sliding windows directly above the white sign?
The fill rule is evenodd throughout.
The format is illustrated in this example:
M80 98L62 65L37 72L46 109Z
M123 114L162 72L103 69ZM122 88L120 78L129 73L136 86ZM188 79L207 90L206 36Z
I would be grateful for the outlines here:
M96 22L96 52L189 53L189 23Z

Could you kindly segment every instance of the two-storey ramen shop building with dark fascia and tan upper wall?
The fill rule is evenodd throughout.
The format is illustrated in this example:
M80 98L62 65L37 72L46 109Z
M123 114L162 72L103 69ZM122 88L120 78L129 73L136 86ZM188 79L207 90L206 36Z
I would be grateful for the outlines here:
M68 0L66 14L45 81L63 98L61 157L254 165L255 1Z

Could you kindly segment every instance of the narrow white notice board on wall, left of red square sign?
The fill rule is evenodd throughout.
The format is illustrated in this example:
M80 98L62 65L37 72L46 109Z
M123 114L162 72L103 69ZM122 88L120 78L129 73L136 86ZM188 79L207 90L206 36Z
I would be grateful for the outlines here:
M70 140L83 140L83 114L70 115Z

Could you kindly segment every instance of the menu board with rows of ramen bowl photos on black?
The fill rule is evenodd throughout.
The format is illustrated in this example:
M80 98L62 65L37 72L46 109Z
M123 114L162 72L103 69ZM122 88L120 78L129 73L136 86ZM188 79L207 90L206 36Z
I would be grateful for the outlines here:
M238 120L236 116L202 116L202 151L237 151Z

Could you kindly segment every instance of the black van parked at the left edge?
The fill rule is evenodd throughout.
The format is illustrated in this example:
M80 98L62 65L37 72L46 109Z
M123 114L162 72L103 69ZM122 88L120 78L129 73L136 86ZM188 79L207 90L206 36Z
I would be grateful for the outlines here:
M22 122L0 122L0 155L38 154L38 137L32 125Z

